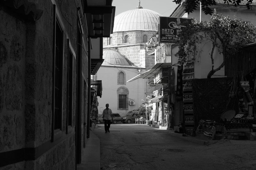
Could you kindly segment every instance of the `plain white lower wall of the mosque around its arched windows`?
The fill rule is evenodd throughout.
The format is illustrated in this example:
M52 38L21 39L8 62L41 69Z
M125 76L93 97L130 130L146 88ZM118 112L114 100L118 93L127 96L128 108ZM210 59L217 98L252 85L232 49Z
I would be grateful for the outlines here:
M113 113L119 113L125 115L128 111L138 109L142 104L141 99L145 100L145 80L139 78L132 82L126 82L129 79L139 75L137 70L141 70L140 73L144 72L144 68L134 67L114 67L114 66L101 66L97 72L97 80L102 80L102 97L98 97L99 102L99 114L102 114L105 109L106 103L109 104L109 108ZM126 74L126 85L117 85L117 74L122 70ZM128 110L117 110L118 97L117 89L121 86L125 86L129 90L128 100L135 100L136 105L128 105Z

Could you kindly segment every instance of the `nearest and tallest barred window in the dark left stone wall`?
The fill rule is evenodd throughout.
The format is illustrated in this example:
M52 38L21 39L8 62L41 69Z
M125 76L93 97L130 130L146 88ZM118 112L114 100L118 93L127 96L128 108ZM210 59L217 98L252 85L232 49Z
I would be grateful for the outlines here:
M63 63L63 31L56 21L55 39L55 79L54 79L54 129L62 126L62 63Z

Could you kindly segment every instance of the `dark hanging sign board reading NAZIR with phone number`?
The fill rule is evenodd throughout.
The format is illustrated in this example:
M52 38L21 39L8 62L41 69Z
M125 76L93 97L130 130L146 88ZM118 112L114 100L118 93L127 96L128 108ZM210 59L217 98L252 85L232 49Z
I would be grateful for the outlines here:
M191 24L191 18L176 18L176 17L159 17L158 27L158 42L159 43L174 43L178 40L178 35L185 27L184 23Z

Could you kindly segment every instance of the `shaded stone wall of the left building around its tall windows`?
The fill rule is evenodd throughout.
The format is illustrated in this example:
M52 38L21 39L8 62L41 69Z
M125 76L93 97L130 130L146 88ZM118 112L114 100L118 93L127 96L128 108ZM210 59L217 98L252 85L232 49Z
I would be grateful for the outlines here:
M38 1L42 16L34 21L15 8L1 6L0 20L0 157L12 152L15 159L1 160L0 169L75 169L77 103L77 7L80 0ZM26 0L22 1L26 2ZM59 135L52 141L53 4L64 31L63 115ZM26 3L25 3L26 4ZM77 6L76 6L77 5ZM22 9L22 8L21 8ZM20 12L20 11L19 11ZM83 12L82 12L83 13ZM86 40L85 35L83 35ZM69 44L68 44L69 39ZM87 49L87 41L83 48ZM68 49L73 49L72 126L67 128ZM81 124L87 117L88 56L82 50ZM87 85L87 86L86 86ZM60 99L61 100L61 99ZM79 102L79 101L78 101ZM84 114L82 114L84 113ZM87 121L85 119L85 121ZM81 148L86 140L81 126ZM83 152L83 150L81 151ZM83 155L83 153L82 153ZM3 166L4 165L4 166Z

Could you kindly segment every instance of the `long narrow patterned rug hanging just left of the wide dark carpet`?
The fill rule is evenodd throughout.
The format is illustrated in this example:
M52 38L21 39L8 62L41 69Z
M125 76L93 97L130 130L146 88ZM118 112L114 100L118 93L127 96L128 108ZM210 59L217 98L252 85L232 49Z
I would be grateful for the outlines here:
M186 134L195 136L193 89L192 89L191 82L187 82L183 87L183 103L184 103Z

